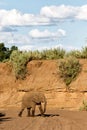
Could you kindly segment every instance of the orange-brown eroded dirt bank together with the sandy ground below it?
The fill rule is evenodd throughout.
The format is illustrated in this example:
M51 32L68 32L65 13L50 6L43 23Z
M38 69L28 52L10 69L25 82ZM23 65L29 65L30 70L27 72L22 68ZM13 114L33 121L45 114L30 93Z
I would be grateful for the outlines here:
M58 61L31 61L25 80L15 81L8 64L0 63L0 130L87 130L87 112L79 111L83 100L87 100L87 60L80 60L82 72L66 92L59 78ZM21 98L19 90L43 91L47 97L45 117L18 117ZM62 110L61 110L62 109Z

